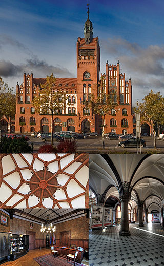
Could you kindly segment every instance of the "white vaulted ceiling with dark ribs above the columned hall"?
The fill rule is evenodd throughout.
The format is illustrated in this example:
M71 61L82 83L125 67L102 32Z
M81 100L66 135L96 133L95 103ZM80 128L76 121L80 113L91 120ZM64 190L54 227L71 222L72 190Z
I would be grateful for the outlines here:
M89 186L96 195L118 198L116 186L122 182L132 187L131 202L138 201L138 194L147 208L155 204L158 210L164 198L164 155L89 155Z

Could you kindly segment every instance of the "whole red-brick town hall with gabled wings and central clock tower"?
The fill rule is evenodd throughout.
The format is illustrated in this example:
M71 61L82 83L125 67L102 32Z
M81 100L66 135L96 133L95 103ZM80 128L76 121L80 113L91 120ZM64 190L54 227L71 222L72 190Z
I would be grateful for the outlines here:
M93 26L88 19L84 27L84 38L78 37L77 50L77 78L56 78L55 89L63 90L68 96L68 105L65 110L54 114L53 131L75 131L102 133L103 119L86 108L84 102L91 94L100 93L100 47L98 37L93 38ZM102 75L102 74L101 74ZM125 73L120 73L119 62L115 65L106 63L104 74L104 89L107 94L115 93L119 98L117 112L111 110L106 115L105 132L133 133L135 119L132 116L132 84L131 78L126 80ZM50 114L38 114L32 105L34 97L39 96L40 84L46 78L35 78L33 73L24 73L23 83L17 84L17 104L15 115L15 132L50 132ZM64 123L65 122L65 123ZM149 127L149 126L148 126Z

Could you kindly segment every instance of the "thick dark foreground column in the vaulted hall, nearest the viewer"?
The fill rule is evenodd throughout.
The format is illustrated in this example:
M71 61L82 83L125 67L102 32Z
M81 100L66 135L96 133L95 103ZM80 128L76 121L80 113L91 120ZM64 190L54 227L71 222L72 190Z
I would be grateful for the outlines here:
M124 195L119 197L121 201L121 230L119 231L120 236L129 236L129 219L128 219L128 202L129 197Z

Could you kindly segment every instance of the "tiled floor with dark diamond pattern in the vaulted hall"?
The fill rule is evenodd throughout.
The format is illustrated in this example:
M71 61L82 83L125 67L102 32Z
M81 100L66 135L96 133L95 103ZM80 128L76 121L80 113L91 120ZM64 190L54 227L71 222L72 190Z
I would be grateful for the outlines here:
M90 266L159 266L164 265L164 237L141 231L138 223L130 224L131 236L119 236L120 226L106 232L89 233ZM164 235L160 224L145 224L141 229Z

